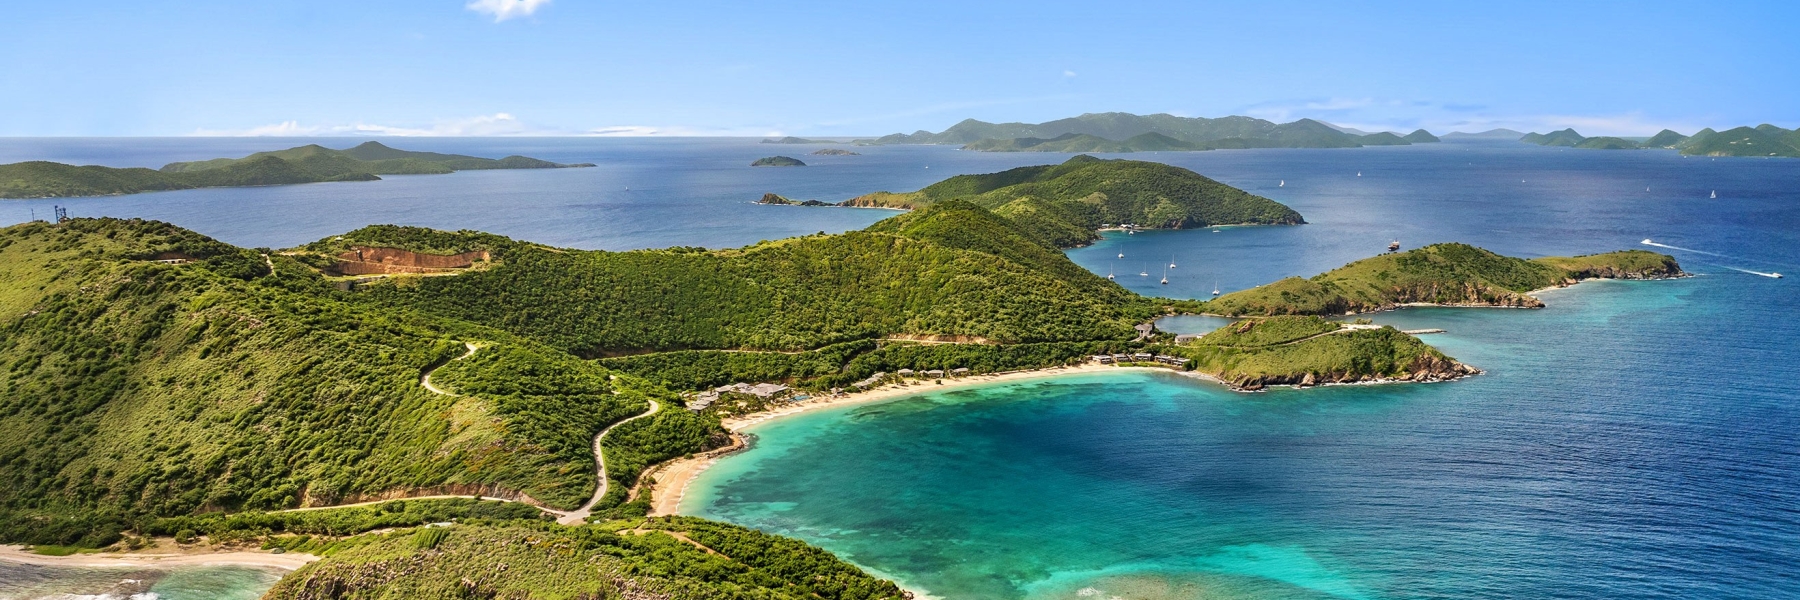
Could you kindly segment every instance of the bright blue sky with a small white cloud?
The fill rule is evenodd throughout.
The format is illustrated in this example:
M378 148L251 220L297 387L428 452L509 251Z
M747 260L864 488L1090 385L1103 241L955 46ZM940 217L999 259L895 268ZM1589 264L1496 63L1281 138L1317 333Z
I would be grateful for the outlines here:
M1800 2L18 2L0 135L1800 126Z

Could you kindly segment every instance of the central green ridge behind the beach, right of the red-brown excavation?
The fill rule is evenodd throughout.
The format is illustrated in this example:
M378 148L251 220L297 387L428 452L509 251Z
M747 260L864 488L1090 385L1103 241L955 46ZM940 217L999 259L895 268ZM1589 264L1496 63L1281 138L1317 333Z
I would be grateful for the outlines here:
M1150 310L970 205L734 250L589 252L493 241L493 252L497 267L373 294L585 357L805 350L896 333L1120 339Z

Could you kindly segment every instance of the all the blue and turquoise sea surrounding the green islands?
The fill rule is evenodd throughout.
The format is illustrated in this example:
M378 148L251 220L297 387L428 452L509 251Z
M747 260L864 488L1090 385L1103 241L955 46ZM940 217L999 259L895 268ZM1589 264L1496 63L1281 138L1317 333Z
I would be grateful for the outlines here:
M0 162L160 166L299 142L7 139ZM817 146L742 139L389 144L601 166L0 200L0 222L58 204L252 247L389 222L583 249L734 247L893 214L751 204L763 193L842 200L1067 157L810 157ZM776 153L812 166L747 168ZM1696 277L1584 283L1543 294L1544 310L1375 315L1444 328L1426 341L1487 369L1447 384L1240 395L1107 373L778 420L704 474L684 512L806 539L940 598L1800 598L1800 160L1516 142L1129 157L1309 222L1109 234L1069 252L1143 294L1310 276L1391 240L1552 256L1649 238L1679 247L1663 250Z

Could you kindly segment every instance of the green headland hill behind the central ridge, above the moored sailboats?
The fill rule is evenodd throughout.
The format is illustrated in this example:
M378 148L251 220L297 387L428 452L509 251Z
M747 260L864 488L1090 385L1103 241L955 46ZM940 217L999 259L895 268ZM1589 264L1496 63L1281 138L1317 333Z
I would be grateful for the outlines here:
M1057 166L958 175L914 193L875 193L853 198L846 205L911 209L943 200L968 200L992 209L1057 247L1087 243L1094 240L1096 229L1109 223L1170 229L1305 223L1300 213L1274 200L1183 168L1087 155Z

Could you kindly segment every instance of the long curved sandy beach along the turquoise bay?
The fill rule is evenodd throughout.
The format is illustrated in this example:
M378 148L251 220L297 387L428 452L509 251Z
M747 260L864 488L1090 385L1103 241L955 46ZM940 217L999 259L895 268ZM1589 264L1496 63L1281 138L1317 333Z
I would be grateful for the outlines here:
M936 391L949 391L949 389L970 387L970 386L985 386L985 384L1019 382L1019 380L1031 380L1031 378L1085 375L1085 373L1123 373L1123 371L1170 371L1170 369L1159 369L1159 368L1121 368L1121 366L1085 362L1085 364L1080 364L1080 366L1064 366L1064 368L1049 368L1049 369L1008 371L1008 373L992 373L992 375L970 375L970 377L958 377L958 378L943 378L941 386L940 384L932 384L932 380L929 380L929 378L914 378L914 380L909 380L907 384L893 384L893 386L882 386L882 387L875 387L875 389L868 389L868 391L853 391L853 393L846 393L846 395L841 395L841 396L814 396L812 400L794 402L794 404L783 405L783 407L774 409L774 411L763 411L763 413L751 413L751 414L743 414L743 416L733 416L733 418L724 420L724 425L733 434L738 434L738 432L742 432L745 429L751 429L751 427L756 427L760 423L767 423L767 422L772 422L772 420L788 418L788 416L794 416L794 414L810 413L810 411L817 411L817 409L826 409L826 407L842 407L842 405L855 405L855 404L882 402L882 400L893 400L893 398L900 398L900 396L936 393ZM1170 373L1175 373L1175 371L1170 371ZM655 495L652 497L650 515L652 517L673 515L680 508L682 497L688 495L688 486L693 483L693 479L698 477L702 472L706 472L707 467L713 467L713 463L718 463L718 459L724 458L725 454L731 454L731 452L729 450L727 452L715 450L715 452L707 452L707 454L695 456L695 458L682 458L682 459L668 461L662 467L659 467L655 470L655 474L652 476L652 481L655 481Z

